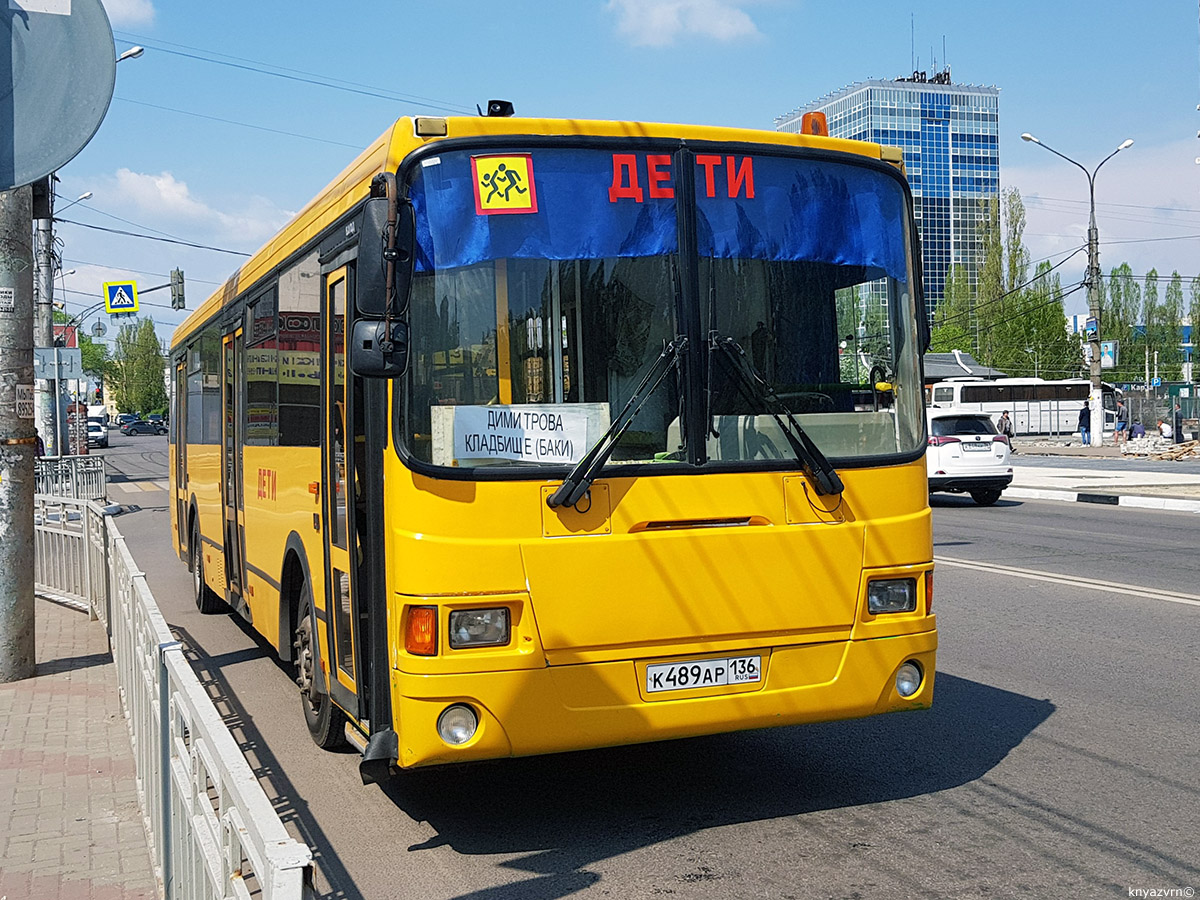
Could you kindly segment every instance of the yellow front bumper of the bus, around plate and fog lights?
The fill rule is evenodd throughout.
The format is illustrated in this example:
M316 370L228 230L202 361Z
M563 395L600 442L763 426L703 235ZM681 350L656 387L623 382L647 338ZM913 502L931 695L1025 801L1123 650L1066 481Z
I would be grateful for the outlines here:
M932 619L930 619L932 623ZM764 649L754 691L646 696L638 662L548 666L484 674L416 676L392 670L397 766L414 768L686 738L775 725L853 719L932 704L937 631ZM709 654L712 655L712 654ZM912 697L895 672L919 662ZM437 733L451 703L470 704L479 730L450 746Z

